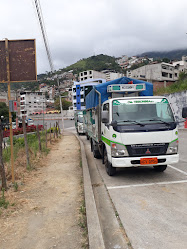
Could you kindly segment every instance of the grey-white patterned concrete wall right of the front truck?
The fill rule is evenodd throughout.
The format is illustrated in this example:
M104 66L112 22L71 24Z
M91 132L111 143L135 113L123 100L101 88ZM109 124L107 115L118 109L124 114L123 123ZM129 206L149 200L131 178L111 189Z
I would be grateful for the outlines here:
M165 96L169 99L177 121L183 121L184 119L182 118L182 108L187 107L187 91L166 94ZM184 122L179 124L179 128L184 127Z

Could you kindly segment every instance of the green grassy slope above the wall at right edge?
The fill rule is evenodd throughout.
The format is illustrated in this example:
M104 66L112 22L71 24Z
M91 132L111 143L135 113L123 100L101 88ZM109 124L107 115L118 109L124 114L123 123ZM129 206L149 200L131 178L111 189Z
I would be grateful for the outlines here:
M168 87L162 87L154 92L154 95L170 94L187 90L187 73L180 73L178 81Z

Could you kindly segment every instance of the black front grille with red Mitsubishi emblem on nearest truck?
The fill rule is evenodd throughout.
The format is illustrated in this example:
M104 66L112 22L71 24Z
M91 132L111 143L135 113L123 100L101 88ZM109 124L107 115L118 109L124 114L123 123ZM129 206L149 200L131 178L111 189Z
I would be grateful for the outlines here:
M165 155L168 143L155 143L155 144L134 144L127 145L127 150L129 156L156 156L156 155Z

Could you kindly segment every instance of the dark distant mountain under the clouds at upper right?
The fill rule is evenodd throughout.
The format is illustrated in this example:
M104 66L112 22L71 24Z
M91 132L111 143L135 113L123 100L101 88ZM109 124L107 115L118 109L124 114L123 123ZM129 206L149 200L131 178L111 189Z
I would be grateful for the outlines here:
M153 58L155 60L157 59L163 59L168 58L170 60L181 60L183 55L187 55L187 49L176 49L171 51L152 51L152 52L145 52L138 56L144 57L147 56L149 58Z

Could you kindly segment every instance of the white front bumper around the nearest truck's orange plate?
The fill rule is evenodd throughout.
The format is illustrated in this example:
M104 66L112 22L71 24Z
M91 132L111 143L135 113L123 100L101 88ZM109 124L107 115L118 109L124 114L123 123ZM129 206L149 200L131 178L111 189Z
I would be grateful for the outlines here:
M111 158L111 163L113 167L138 167L138 166L155 166L154 164L140 164L140 158L158 158L158 164L155 165L167 165L175 164L179 162L179 154L175 155L163 155L163 156L152 156L152 157L121 157L121 158Z

